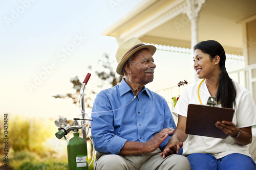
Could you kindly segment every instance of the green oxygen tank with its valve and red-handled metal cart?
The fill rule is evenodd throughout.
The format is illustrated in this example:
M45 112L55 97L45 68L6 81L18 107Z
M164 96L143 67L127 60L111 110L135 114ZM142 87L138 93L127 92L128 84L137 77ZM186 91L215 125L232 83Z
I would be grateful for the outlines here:
M73 118L73 125L70 126L67 124L68 120L66 117L62 116L54 121L54 124L58 127L58 132L55 133L55 136L58 139L61 139L62 137L65 138L65 140L68 143L68 164L69 164L69 170L88 170L91 163L88 165L88 152L87 152L87 132L86 129L87 125L90 122L86 122L86 120L92 120L92 119L86 119L86 116L89 117L84 110L84 88L87 85L88 80L90 79L91 74L88 73L86 78L84 79L81 89L80 89L80 107L81 107L81 115L82 118ZM78 120L82 120L81 124L79 125ZM81 129L83 138L79 137L79 129ZM88 126L89 130L89 126ZM65 135L67 135L70 131L74 132L74 137L72 137L69 141ZM89 136L90 138L90 136ZM90 138L91 139L91 138ZM92 140L92 139L91 139Z

